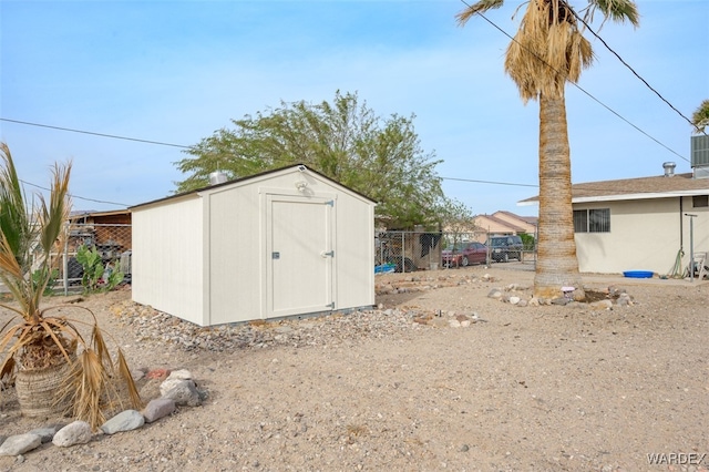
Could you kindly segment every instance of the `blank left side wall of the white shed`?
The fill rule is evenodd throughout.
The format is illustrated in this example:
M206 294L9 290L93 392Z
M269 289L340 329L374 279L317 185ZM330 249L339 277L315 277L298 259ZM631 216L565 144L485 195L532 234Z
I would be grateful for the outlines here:
M133 213L133 300L204 325L202 198Z

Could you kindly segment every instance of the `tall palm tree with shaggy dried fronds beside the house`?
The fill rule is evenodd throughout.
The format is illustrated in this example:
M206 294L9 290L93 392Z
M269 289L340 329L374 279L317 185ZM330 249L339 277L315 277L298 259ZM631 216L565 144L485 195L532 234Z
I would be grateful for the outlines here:
M480 0L458 13L459 24L503 3ZM523 102L540 101L537 297L556 298L562 296L563 286L572 286L576 287L574 298L585 299L574 240L564 90L566 82L577 82L580 71L593 62L593 50L583 32L596 12L604 21L628 20L638 25L637 7L631 0L588 0L583 18L567 1L530 0L505 55L505 72L516 83Z

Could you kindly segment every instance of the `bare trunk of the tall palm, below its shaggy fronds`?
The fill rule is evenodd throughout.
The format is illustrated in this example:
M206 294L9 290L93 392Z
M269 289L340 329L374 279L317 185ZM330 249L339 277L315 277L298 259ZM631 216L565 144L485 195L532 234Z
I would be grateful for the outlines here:
M540 96L540 226L534 295L557 298L562 287L575 287L585 298L572 208L572 170L564 95Z

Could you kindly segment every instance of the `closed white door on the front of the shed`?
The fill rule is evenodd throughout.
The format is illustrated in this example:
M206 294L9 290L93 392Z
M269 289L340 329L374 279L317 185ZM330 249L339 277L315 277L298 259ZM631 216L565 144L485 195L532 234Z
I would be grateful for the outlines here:
M285 195L267 202L268 317L332 309L333 202Z

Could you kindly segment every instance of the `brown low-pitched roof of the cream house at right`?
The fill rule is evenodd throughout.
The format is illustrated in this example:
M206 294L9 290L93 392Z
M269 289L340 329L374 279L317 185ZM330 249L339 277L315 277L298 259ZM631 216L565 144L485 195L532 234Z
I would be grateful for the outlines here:
M672 176L621 178L572 185L572 202L614 202L627 199L668 198L709 194L709 178L693 178L692 173ZM521 205L538 203L538 195L525 198Z

